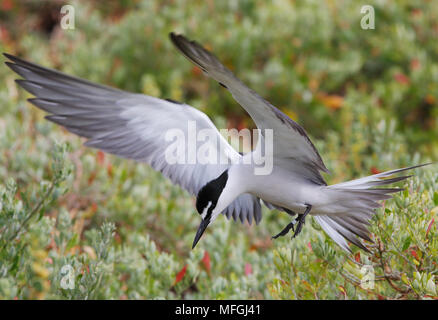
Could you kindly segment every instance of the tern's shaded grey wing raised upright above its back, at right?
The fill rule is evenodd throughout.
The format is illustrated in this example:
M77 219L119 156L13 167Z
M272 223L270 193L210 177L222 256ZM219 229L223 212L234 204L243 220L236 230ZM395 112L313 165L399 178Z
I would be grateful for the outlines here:
M328 170L306 131L298 123L249 89L196 41L190 41L175 33L171 33L170 38L186 58L231 92L234 99L261 129L262 134L264 129L273 130L276 165L303 174L317 184L326 184L320 171Z

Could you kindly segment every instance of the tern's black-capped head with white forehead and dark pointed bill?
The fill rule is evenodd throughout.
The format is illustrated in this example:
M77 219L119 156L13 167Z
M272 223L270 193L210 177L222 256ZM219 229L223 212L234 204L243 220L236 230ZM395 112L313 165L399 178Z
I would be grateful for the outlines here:
M227 185L228 170L225 170L219 177L208 182L198 192L196 198L196 210L201 215L202 221L193 240L192 249L196 246L205 229L218 217L218 215L228 206L221 199L221 195ZM225 207L224 207L225 206Z

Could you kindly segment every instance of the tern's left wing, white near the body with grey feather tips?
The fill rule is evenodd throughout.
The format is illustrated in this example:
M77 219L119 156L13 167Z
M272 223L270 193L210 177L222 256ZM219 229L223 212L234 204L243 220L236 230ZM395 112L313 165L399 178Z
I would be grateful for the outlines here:
M4 55L10 60L6 64L24 78L16 80L17 83L36 96L29 101L49 113L46 119L85 137L86 146L148 163L191 194L196 195L207 182L241 157L208 116L189 105L98 85ZM227 161L219 164L190 162L193 152L190 148L175 151L173 163L166 160L168 148L175 144L175 139L169 141L166 133L179 130L188 137L189 122L195 124L195 134L203 129L213 130L210 132L215 132L218 142L208 139L208 144L198 142L195 150L203 146L206 153L216 153L218 159ZM222 213L242 223L261 220L259 199L250 194L240 195Z

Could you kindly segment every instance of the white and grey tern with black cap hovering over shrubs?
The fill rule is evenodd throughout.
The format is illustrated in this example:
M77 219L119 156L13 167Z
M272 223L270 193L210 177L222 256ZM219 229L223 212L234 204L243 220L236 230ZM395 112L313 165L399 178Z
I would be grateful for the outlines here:
M6 64L24 78L16 82L35 96L29 102L49 113L47 120L85 137L86 146L148 163L196 195L196 209L202 221L192 248L220 213L228 219L258 224L264 204L296 216L273 238L284 236L291 229L293 237L297 236L310 214L344 250L351 252L348 240L368 251L361 239L372 241L367 227L379 207L377 201L402 190L382 186L408 178L391 176L419 166L327 185L321 172L328 170L298 123L249 89L197 42L175 33L170 33L170 39L188 60L228 89L254 120L261 135L252 152L235 151L206 114L187 104L95 84L4 55L10 60ZM166 148L172 143L166 139L166 132L177 128L187 134L190 121L196 123L198 131L213 130L219 143L207 144L207 148L214 148L210 151L232 161L166 161ZM266 129L272 130L272 141L264 139ZM246 160L257 158L255 150L265 143L272 143L272 148L267 148L272 150L268 155L273 161L272 170L267 175L255 174L257 159ZM179 156L186 157L187 152Z

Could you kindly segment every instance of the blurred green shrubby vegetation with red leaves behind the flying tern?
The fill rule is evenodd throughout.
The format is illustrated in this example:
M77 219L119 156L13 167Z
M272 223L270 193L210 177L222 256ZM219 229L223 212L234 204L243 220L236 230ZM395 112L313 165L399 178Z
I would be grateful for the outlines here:
M181 32L311 133L329 183L437 159L433 0L367 1L374 30L359 1L69 1L73 30L60 28L64 4L0 0L0 51L253 127L173 48ZM377 210L371 254L345 254L313 222L271 241L288 217L269 210L259 226L221 217L192 251L193 197L84 148L4 65L0 77L0 298L438 299L436 166Z

